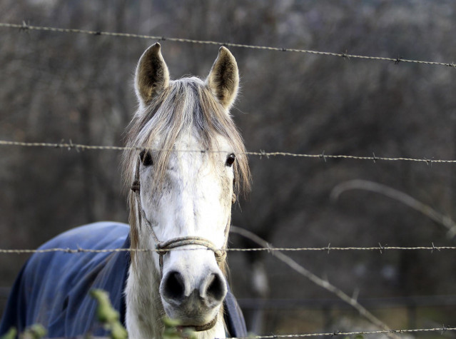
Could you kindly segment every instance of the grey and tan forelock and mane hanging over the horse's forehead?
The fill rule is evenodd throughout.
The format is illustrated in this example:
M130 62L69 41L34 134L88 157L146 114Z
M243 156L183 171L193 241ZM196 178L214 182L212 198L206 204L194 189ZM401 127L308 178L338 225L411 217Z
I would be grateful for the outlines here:
M148 104L136 111L126 133L126 151L123 153L123 182L128 189L128 207L131 248L138 249L139 230L136 197L130 191L134 165L141 149L153 155L154 193L158 193L166 174L168 160L181 133L196 132L203 149L211 160L217 136L230 143L236 155L233 163L234 193L245 193L250 188L250 170L243 139L228 110L218 103L206 84L196 77L170 81L169 86ZM178 151L178 150L175 150ZM230 150L227 150L230 151ZM131 253L132 263L135 252ZM224 266L224 265L221 265Z

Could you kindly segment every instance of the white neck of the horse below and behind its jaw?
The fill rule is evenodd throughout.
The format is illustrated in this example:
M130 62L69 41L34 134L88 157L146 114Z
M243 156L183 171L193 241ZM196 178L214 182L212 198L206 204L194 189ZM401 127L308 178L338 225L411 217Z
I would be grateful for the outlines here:
M143 244L140 241L141 245ZM129 338L163 338L163 317L166 313L159 293L161 277L153 255L153 252L136 253L136 261L134 265L130 264L128 270L125 293L126 327ZM225 338L223 308L211 330L196 332L195 335L196 339Z

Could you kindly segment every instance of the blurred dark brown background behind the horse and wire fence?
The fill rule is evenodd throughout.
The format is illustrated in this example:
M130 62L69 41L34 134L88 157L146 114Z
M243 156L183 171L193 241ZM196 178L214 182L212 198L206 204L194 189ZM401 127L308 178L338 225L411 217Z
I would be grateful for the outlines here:
M456 61L455 1L2 0L0 22L391 58ZM0 29L0 139L123 145L133 71L155 41ZM206 77L218 46L161 41L176 79ZM456 69L230 48L232 109L248 151L456 159ZM74 226L127 221L119 151L0 146L0 248L36 248ZM447 228L382 183L455 218L454 164L250 157L253 189L233 224L279 247L455 246ZM231 247L249 247L231 236ZM256 247L256 246L254 246ZM454 251L288 253L390 328L455 325ZM26 255L0 255L0 312ZM268 253L230 253L230 281L257 334L372 328ZM455 338L447 331L444 336ZM417 334L441 338L440 332Z

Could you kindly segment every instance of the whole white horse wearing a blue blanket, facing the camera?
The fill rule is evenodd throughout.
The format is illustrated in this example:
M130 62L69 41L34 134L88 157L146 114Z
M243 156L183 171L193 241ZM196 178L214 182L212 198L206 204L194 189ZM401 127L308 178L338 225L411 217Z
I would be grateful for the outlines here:
M246 336L226 280L231 206L250 184L230 116L239 87L235 58L222 46L206 79L171 80L156 43L139 59L134 87L138 109L123 151L129 225L81 226L39 248L129 250L31 255L11 289L0 335L34 323L49 337L106 335L88 296L102 288L130 338L162 338L165 315L198 339Z

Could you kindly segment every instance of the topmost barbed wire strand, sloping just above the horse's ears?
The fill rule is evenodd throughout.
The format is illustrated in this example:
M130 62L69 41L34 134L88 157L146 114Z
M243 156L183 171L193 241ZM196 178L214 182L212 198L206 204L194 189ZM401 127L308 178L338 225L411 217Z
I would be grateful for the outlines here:
M117 32L108 32L108 31L89 31L89 30L85 30L85 29L62 29L59 27L49 27L49 26L31 26L29 24L26 24L25 21L23 21L22 24L9 24L9 23L2 22L2 23L0 23L0 27L19 29L21 31L32 31L32 30L33 31L51 31L51 32L56 32L56 33L76 33L76 34L89 34L89 35L93 35L93 36L114 36L114 37L123 37L123 38L174 41L174 42L189 43L189 44L206 44L206 45L216 45L216 46L223 45L223 46L227 46L227 47L238 47L238 48L243 48L243 49L296 52L296 53L303 53L303 54L314 54L314 55L319 55L319 56L338 56L343 59L365 59L365 60L374 60L374 61L392 61L395 64L399 64L401 62L406 62L406 63L413 63L413 64L425 64L425 65L446 66L446 67L456 68L456 64L454 62L445 63L445 62L437 62L437 61L421 61L421 60L403 59L402 57L388 58L388 57L384 57L384 56L360 56L360 55L347 54L347 53L312 51L309 49L288 49L288 48L284 48L284 47L235 44L235 43L231 43L231 42L172 38L172 37L151 36L151 35L144 35L144 34L117 33Z

